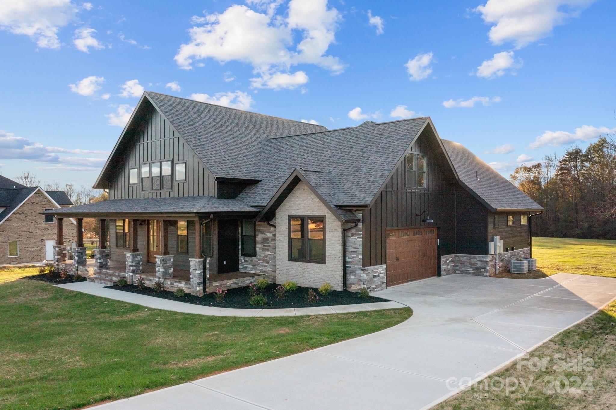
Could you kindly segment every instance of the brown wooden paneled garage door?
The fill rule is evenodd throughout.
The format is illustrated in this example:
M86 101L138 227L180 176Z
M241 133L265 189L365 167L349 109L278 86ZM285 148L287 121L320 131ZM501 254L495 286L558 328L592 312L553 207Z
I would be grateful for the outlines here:
M436 228L387 230L387 286L436 276Z

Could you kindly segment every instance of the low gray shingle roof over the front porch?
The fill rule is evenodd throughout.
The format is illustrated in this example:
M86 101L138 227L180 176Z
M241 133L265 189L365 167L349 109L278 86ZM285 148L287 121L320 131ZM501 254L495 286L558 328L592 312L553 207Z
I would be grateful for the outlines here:
M219 199L213 196L179 196L172 198L111 199L91 204L71 206L47 211L49 214L134 214L197 212L258 212L259 210L237 199Z

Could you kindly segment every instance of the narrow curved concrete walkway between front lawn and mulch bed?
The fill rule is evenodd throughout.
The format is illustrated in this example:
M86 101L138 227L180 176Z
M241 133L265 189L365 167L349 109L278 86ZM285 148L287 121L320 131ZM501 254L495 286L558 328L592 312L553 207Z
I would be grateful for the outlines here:
M195 313L207 316L242 316L242 317L265 317L265 316L302 316L302 315L328 315L331 313L363 312L368 310L403 308L405 305L398 302L357 303L355 305L338 306L315 306L305 308L283 309L235 309L219 308L214 306L193 305L191 303L178 302L177 300L163 299L137 293L108 289L106 285L94 282L76 282L55 285L91 295L107 297L108 299L121 300L122 302L135 303L156 309L172 310L173 312Z

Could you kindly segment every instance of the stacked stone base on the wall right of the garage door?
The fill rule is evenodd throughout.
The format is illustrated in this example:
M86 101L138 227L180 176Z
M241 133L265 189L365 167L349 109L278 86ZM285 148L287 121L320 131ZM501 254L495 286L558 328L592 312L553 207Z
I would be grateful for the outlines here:
M461 273L474 276L494 276L508 272L512 260L530 257L530 248L516 249L497 255L444 255L440 257L441 275ZM498 259L498 270L496 260Z

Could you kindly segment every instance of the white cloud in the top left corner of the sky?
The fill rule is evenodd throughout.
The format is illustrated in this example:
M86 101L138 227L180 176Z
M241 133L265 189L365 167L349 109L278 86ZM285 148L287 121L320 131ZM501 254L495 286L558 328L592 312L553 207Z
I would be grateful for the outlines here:
M4 0L0 29L29 36L43 49L59 49L58 31L75 20L77 11L70 0Z

